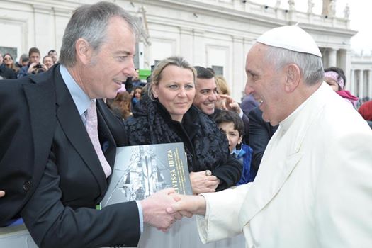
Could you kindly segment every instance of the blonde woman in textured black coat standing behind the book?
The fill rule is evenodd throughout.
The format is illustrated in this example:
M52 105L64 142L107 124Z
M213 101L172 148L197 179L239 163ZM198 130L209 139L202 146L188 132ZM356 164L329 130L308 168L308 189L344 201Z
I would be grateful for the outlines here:
M130 145L184 142L193 193L234 186L242 166L230 155L225 134L192 105L196 71L182 57L157 64L147 96L125 121ZM210 173L211 172L211 173Z

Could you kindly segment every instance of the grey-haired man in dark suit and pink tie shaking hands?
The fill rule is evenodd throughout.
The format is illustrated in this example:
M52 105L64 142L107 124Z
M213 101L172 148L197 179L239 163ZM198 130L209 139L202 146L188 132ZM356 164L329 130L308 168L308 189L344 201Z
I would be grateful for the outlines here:
M127 145L123 123L100 98L114 98L132 76L137 33L135 19L115 4L81 6L67 24L61 64L1 82L0 226L21 216L41 247L136 246L143 223L167 230L180 218L165 213L171 189L95 209L116 147ZM99 144L84 126L89 110Z

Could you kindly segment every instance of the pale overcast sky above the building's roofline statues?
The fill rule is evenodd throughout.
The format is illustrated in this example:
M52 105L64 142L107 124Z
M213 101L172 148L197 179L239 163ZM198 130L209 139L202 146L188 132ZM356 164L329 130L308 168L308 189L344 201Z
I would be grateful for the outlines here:
M274 6L276 0L252 0L258 3L266 3ZM313 0L313 12L322 13L322 0ZM350 27L358 31L351 38L351 49L356 52L363 50L364 55L371 54L372 51L372 1L371 0L336 0L336 16L343 17L346 3L350 7ZM288 0L281 0L281 8L288 9ZM295 0L295 9L306 12L308 10L308 0Z

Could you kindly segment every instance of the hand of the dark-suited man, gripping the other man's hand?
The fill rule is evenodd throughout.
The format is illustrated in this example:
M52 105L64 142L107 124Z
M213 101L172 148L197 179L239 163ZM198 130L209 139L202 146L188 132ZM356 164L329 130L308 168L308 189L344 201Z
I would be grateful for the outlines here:
M175 193L174 188L166 188L140 201L143 222L165 232L176 220L181 220L182 215L180 213L169 214L166 211L169 205L180 200L179 195Z

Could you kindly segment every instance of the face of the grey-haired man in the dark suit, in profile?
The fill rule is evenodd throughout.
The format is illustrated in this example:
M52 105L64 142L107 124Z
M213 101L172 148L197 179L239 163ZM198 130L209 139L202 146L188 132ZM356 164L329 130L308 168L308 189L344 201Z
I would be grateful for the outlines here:
M135 35L123 18L108 23L106 41L84 67L81 87L90 98L115 98L121 84L135 72Z

